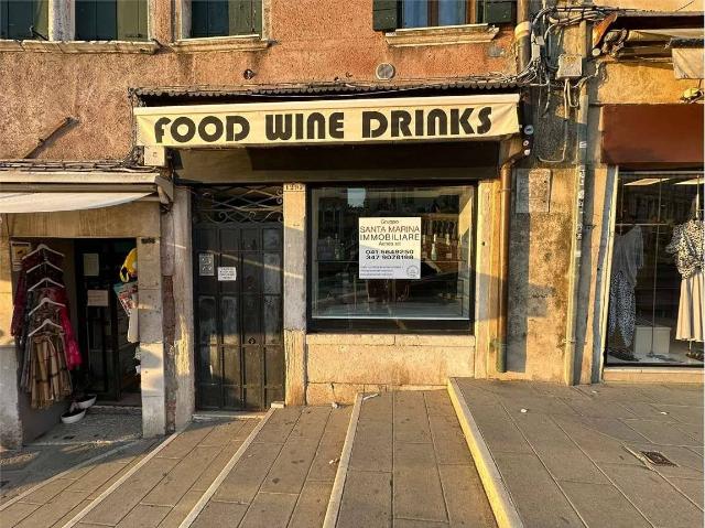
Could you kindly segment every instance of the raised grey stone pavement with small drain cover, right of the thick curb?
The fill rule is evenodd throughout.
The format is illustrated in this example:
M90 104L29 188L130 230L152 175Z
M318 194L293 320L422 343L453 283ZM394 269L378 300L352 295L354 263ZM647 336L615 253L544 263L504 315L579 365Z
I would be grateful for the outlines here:
M703 526L702 385L457 384L525 527Z

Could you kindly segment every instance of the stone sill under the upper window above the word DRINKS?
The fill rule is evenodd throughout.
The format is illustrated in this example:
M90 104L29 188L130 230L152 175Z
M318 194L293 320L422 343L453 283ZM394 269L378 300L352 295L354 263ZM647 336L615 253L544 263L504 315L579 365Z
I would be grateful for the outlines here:
M498 32L496 25L465 24L402 29L384 33L384 37L392 47L445 46L490 42Z

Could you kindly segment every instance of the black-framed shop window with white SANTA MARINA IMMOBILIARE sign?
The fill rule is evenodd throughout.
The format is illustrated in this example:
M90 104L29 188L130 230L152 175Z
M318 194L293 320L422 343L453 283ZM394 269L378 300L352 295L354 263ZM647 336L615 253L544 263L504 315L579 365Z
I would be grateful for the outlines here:
M313 330L469 331L473 187L311 192Z

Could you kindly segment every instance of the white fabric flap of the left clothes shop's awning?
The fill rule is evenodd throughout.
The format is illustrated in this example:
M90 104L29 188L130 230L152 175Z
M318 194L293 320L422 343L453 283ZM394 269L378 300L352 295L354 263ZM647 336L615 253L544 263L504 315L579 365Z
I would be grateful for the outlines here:
M152 193L0 193L0 213L52 213L110 207Z

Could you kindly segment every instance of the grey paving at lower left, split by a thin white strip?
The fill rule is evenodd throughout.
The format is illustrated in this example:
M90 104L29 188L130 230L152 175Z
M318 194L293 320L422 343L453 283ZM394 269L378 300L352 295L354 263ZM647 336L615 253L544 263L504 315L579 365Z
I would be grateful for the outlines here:
M64 527L82 516L75 526L177 527L257 422L195 422L171 440L135 441L4 507L1 526ZM154 453L159 446L163 449ZM153 457L127 476L149 456Z

